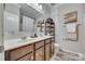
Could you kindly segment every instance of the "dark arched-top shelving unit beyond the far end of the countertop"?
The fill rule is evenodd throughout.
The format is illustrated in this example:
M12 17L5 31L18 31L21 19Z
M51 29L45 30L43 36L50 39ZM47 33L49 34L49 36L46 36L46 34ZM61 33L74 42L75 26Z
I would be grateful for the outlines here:
M55 43L55 23L53 22L53 18L47 18L45 22L45 35L47 36L54 36L52 38L53 42L53 48L52 48L52 53L54 54L54 43Z

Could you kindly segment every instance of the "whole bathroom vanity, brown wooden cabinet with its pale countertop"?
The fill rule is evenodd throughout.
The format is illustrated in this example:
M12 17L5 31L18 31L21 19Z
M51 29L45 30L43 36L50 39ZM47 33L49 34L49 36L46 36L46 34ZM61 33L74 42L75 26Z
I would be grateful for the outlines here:
M52 57L52 36L31 38L27 41L6 42L5 61L48 61Z

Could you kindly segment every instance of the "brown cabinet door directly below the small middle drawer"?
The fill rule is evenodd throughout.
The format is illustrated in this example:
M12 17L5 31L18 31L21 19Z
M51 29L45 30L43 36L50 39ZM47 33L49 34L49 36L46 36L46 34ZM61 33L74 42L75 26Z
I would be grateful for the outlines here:
M36 50L36 61L44 61L44 47Z

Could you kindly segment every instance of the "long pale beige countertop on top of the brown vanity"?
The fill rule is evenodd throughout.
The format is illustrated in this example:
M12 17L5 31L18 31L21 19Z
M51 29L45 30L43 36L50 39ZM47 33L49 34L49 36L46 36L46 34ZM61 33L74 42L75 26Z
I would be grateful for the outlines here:
M12 50L15 48L19 48L26 44L34 43L40 40L44 40L47 38L52 38L53 36L43 36L43 37L37 37L37 38L28 38L26 40L18 39L12 39L12 40L4 40L4 51Z

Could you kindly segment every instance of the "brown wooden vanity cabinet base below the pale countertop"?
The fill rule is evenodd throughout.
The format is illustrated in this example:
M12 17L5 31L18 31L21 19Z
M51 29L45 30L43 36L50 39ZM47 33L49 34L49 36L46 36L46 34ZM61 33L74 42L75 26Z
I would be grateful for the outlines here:
M52 38L5 51L5 61L49 61Z

